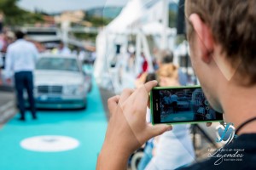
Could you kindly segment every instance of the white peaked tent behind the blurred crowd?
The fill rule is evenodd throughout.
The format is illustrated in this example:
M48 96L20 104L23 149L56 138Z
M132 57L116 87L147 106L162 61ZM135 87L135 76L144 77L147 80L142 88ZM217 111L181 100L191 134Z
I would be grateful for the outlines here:
M171 35L175 32L172 29L166 29L166 26L164 26L163 23L160 23L160 20L154 21L152 19L148 19L147 17L149 16L148 13L150 13L150 8L148 8L147 4L143 2L143 0L130 0L126 4L125 8L122 9L119 16L115 18L108 26L106 26L96 38L97 58L95 64L95 77L96 82L103 88L109 88L113 86L114 90L119 93L119 91L124 88L119 82L125 82L126 86L127 84L131 84L131 82L129 83L127 80L133 79L134 81L136 78L136 74L138 73L140 67L138 64L142 52L145 54L146 59L148 60L148 70L153 71L152 57L149 52L146 35L160 35L161 37L163 35L163 31L166 32L166 35ZM166 0L160 0L156 2L158 7L163 7L163 5L159 5L159 2L166 2ZM161 10L161 8L158 8L158 10ZM151 12L153 11L151 10ZM125 59L125 53L117 54L117 45L119 45L122 49L127 49L129 35L134 35L137 37L137 67L135 68L136 71L133 76L123 74L121 77L123 77L124 80L119 81L117 78L117 75L119 75L119 65L117 65L115 68L110 68L110 61L114 57L118 59ZM125 51L126 50L123 50L123 52ZM119 63L125 62L123 60ZM132 87L130 86L129 88Z

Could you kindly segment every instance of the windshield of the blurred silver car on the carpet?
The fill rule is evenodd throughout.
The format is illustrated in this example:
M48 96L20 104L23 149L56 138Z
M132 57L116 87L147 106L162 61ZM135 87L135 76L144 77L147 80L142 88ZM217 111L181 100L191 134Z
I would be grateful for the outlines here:
M49 71L79 71L76 59L67 58L41 58L37 63L37 70Z

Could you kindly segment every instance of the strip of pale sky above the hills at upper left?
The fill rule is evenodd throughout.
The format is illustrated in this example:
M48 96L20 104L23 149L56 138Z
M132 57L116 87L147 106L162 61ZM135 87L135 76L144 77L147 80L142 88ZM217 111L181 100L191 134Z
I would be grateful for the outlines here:
M34 11L35 8L46 12L60 12L63 10L88 9L103 6L124 6L128 0L20 0L18 5Z

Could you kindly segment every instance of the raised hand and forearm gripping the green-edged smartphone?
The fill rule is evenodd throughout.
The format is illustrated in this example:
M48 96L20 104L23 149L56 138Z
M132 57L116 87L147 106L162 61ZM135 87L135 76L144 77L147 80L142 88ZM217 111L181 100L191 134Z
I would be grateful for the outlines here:
M133 151L148 139L172 129L169 125L151 126L146 122L148 93L156 85L156 81L148 82L108 99L110 119L97 169L125 168Z

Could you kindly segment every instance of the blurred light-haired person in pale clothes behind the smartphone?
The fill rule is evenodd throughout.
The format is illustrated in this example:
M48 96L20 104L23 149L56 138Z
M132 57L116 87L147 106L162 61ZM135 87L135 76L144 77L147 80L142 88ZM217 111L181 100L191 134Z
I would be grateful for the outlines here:
M160 87L180 86L176 65L160 65L157 77ZM170 96L170 98L174 101L173 97ZM154 138L154 156L145 170L177 169L181 166L188 166L193 161L195 161L195 150L189 134L189 125L175 125L172 131Z

